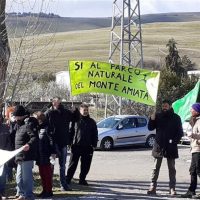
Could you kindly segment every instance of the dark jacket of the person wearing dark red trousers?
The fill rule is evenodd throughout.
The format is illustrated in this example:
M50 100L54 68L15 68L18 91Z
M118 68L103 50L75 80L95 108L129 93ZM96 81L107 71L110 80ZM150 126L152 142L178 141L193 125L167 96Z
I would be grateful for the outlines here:
M38 157L36 160L37 165L50 164L51 154L56 154L55 145L53 143L52 135L48 133L47 123L39 125L38 130L39 145L38 145Z

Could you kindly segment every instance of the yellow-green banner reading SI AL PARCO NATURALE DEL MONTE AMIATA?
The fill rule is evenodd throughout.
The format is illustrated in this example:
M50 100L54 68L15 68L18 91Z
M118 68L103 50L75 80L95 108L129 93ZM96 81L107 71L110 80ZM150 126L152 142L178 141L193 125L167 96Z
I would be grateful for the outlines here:
M155 105L160 72L97 61L69 61L72 95L105 93Z

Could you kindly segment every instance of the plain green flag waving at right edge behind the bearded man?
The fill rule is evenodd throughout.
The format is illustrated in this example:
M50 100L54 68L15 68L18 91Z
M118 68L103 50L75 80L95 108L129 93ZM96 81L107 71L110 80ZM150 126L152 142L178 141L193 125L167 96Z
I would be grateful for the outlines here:
M198 81L194 89L188 92L182 99L178 99L172 104L174 112L181 117L182 122L189 119L191 116L190 108L192 104L196 103L197 101L199 94L199 85L200 81Z

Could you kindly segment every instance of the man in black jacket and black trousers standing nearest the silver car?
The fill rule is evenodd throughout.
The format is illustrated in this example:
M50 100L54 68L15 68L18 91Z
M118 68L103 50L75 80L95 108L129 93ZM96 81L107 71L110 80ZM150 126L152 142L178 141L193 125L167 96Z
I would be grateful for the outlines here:
M71 157L66 179L70 184L81 157L79 184L88 185L85 179L90 170L94 148L97 146L98 130L96 122L89 116L86 104L80 106L80 117L74 125L74 131L71 133Z

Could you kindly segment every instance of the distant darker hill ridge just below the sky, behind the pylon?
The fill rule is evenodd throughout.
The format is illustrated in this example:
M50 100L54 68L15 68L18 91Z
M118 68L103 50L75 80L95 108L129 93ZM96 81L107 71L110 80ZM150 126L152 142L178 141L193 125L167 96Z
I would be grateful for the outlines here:
M29 34L68 32L91 30L111 26L112 18L70 18L70 17L38 17L37 15L8 15L6 22L11 37L21 36L26 30ZM188 22L200 21L200 12L194 13L163 13L141 16L141 22ZM27 29L28 27L28 29Z

